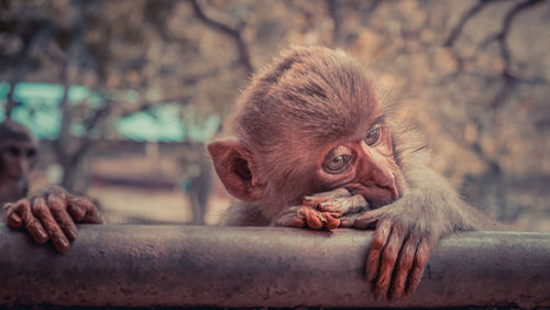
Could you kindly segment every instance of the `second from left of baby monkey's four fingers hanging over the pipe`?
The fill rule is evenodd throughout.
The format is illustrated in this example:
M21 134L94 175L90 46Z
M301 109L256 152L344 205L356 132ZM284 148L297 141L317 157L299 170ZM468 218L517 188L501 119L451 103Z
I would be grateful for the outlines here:
M388 296L389 285L392 284L392 275L394 274L397 257L399 255L399 250L403 245L403 230L394 225L387 239L384 252L382 253L378 277L374 286L374 295L378 299L385 299Z

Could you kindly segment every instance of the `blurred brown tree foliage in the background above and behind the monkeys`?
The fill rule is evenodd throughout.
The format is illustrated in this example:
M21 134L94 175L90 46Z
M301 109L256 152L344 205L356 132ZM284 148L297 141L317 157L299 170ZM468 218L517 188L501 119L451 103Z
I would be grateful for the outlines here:
M504 220L550 213L548 1L2 0L0 10L0 81L87 86L108 108L62 112L103 136L109 120L163 102L195 107L197 122L224 118L280 49L341 47L403 103L398 117L425 132L433 166L468 200Z

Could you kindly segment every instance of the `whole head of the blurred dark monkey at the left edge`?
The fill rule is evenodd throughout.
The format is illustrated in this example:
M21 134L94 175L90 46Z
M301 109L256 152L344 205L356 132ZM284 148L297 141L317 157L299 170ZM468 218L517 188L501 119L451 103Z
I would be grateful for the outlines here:
M26 179L36 154L37 142L25 126L11 120L0 123L0 178Z

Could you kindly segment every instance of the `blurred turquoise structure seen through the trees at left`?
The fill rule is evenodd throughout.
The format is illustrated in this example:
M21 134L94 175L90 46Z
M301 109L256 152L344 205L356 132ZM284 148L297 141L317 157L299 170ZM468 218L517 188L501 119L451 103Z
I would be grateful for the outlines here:
M8 84L0 84L0 121L6 119ZM59 134L62 101L64 88L61 85L20 82L13 93L18 102L22 102L12 111L12 119L26 125L38 139L55 140ZM134 97L128 92L129 101ZM68 92L69 104L79 104L84 99L92 108L105 104L101 96L92 93L87 87L73 86ZM135 101L135 99L134 99ZM220 126L219 115L209 117L202 124L185 124L179 115L179 104L165 103L154 107L147 112L136 112L132 115L116 120L113 129L121 140L139 142L183 142L186 140L207 141L216 134ZM187 131L186 131L187 129ZM72 134L79 136L84 133L82 124L74 123Z

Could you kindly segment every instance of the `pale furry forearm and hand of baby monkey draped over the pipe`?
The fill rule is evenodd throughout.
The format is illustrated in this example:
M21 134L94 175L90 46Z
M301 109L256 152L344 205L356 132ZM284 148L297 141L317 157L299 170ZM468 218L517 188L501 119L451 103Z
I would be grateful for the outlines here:
M397 201L366 211L356 229L376 228L366 263L378 298L398 299L416 289L431 251L452 232L479 229L472 208L428 167L407 169L408 190Z

